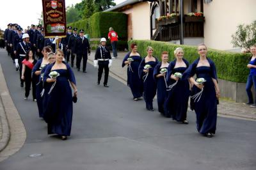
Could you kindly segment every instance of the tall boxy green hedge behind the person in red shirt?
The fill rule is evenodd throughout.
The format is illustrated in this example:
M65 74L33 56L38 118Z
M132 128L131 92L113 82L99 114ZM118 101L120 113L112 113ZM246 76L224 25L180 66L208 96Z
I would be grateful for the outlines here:
M91 38L108 38L109 27L113 27L119 40L127 40L127 15L120 12L97 12L90 19L78 20L68 26L84 29Z

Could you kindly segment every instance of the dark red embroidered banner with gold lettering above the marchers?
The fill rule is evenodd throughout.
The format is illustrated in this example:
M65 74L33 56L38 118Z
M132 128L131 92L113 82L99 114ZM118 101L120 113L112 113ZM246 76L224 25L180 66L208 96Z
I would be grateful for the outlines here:
M42 0L45 38L66 37L65 0Z

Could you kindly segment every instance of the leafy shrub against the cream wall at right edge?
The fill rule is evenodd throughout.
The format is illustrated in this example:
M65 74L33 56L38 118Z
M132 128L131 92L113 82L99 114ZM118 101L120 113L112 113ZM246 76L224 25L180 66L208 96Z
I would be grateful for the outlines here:
M237 26L237 31L232 35L232 41L234 47L240 47L242 49L249 50L252 45L256 44L256 20L252 24Z

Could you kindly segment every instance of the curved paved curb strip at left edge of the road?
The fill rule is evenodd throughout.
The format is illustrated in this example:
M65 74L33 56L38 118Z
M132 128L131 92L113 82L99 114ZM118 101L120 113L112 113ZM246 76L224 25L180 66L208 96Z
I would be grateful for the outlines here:
M1 162L19 151L20 148L22 148L23 144L26 141L26 130L20 118L19 112L17 111L17 108L13 103L12 97L10 96L1 64L0 79L0 102L1 104L3 104L3 114L5 114L5 116L1 115L4 137L4 139L2 138L4 140L4 143L3 146L1 146L0 150Z

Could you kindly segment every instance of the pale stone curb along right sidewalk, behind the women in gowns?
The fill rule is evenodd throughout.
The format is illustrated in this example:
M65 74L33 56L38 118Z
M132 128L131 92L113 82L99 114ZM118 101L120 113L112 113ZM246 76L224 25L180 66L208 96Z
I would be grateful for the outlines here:
M89 58L88 58L88 60L91 61L90 64L93 65L93 60L89 59ZM123 77L121 77L120 75L113 72L111 69L109 69L109 72L112 73L113 75L115 75L116 77L118 77L118 79L121 79L122 81L127 82L127 80L125 80ZM116 78L116 77L114 77L114 78ZM256 116L247 116L247 115L241 115L241 114L227 114L227 113L223 113L223 112L217 112L217 113L220 114L220 116L230 116L232 118L235 117L235 118L242 118L242 119L253 120L253 121L256 120Z

